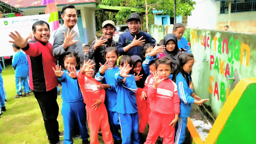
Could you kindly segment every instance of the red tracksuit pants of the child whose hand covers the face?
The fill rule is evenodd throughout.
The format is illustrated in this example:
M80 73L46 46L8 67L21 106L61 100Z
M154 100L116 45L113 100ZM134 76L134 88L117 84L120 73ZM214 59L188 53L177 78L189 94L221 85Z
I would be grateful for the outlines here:
M90 129L91 144L99 144L98 132L101 126L102 138L105 144L113 144L113 137L110 132L108 113L105 105L94 110L86 105L88 127Z

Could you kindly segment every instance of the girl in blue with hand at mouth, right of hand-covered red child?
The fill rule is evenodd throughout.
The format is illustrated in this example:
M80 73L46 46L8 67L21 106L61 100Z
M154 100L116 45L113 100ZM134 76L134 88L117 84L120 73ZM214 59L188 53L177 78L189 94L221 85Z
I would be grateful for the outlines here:
M98 89L106 90L105 105L108 111L110 130L114 138L114 144L121 144L121 135L119 134L120 123L117 113L117 91L115 90L115 73L119 72L119 67L116 65L119 58L116 47L108 47L105 50L105 58L107 62L102 65L99 72L95 76L95 80L102 81L101 85L97 85ZM107 89L108 88L108 89Z

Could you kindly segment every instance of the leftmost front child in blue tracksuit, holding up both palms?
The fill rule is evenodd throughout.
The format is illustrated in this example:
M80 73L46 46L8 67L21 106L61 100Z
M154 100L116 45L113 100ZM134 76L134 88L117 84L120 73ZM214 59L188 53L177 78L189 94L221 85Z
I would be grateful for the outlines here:
M56 65L55 75L62 84L63 99L61 113L64 123L64 143L73 144L72 132L74 121L79 125L82 144L89 144L88 132L86 127L86 111L83 102L82 93L79 89L77 80L69 77L70 74L75 74L73 69L80 68L80 57L75 52L68 52L64 56L64 72L61 71L61 66ZM78 70L79 72L79 70Z

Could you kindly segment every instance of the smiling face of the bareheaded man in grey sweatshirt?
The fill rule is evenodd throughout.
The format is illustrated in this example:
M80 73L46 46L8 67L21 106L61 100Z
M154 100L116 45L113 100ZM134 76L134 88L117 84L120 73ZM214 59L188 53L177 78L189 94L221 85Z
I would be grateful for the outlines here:
M72 29L77 23L77 14L75 9L67 8L61 18L64 20L64 26Z

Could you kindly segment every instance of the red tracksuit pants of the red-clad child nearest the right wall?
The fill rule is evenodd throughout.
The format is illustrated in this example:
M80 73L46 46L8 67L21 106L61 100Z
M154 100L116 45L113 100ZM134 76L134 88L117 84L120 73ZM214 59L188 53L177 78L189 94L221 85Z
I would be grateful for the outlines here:
M172 126L170 126L174 117L174 114L166 115L151 111L149 115L149 132L144 144L155 144L161 132L161 135L164 137L163 144L174 144L175 127L172 128Z

